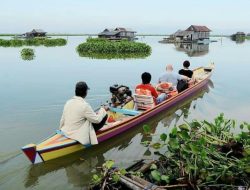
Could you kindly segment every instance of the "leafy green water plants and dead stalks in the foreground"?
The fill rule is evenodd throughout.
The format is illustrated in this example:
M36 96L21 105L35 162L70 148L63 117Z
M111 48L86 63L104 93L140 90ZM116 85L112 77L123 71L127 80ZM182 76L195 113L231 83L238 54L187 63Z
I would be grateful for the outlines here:
M149 126L145 126L144 130L147 134L150 133ZM233 131L237 131L237 134ZM112 189L110 186L114 183L112 179L115 175L119 179L118 183L127 184L127 189L131 189L131 184L142 189L148 185L154 185L158 189L249 188L249 123L236 125L234 120L225 119L221 114L214 122L193 120L175 126L169 134L160 134L155 143L142 144L155 149L154 154L159 159L143 165L140 169L136 166L137 174L138 171L141 172L140 176L135 176L127 169L125 182L117 168L110 169L111 175L106 171L107 178L99 176L100 179L95 181L99 181L99 187L105 183Z

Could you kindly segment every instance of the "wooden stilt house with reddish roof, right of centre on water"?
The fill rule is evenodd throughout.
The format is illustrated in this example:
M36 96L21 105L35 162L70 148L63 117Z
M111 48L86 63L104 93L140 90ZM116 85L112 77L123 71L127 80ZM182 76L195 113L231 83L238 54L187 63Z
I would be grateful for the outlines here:
M211 30L206 26L191 25L186 30L177 30L170 36L175 42L192 42L209 39Z

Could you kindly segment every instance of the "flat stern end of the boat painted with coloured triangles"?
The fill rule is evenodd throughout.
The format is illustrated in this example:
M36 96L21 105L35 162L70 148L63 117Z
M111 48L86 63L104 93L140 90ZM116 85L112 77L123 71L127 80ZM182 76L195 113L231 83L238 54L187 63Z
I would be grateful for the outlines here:
M36 151L35 144L28 144L22 147L22 151L27 156L27 158L31 161L32 164L43 162L40 154Z

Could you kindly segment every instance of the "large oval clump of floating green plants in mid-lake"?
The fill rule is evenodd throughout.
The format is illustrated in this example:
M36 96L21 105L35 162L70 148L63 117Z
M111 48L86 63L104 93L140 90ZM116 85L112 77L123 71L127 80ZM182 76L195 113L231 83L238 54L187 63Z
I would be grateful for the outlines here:
M145 43L102 38L88 38L76 49L79 56L93 59L145 58L151 54L151 47Z

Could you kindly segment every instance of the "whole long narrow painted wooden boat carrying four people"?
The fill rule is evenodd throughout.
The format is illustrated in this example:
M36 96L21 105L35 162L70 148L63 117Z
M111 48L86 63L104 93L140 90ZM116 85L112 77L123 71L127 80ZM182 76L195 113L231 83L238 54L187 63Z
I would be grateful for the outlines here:
M108 115L113 118L113 121L107 122L105 126L97 132L98 142L101 143L119 135L124 131L137 126L141 122L146 121L159 112L172 107L177 102L190 97L196 91L207 85L212 74L212 70L213 66L195 69L194 76L197 82L194 85L151 109L145 111L134 110L133 101L130 101L122 109L111 107L108 111ZM73 139L66 138L61 131L57 131L55 134L51 135L47 139L44 139L37 145L28 144L22 147L22 151L33 164L36 164L59 158L73 152L89 148L90 146L90 144L82 145Z

